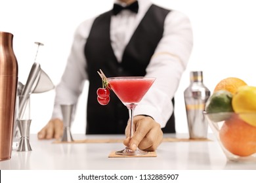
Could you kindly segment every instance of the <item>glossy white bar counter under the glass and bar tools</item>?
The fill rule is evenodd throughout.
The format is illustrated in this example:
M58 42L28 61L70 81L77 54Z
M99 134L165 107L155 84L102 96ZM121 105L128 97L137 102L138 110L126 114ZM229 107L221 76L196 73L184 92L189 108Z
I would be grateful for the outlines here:
M124 135L76 135L73 139L123 139ZM53 143L30 136L32 151L12 151L9 160L0 161L1 170L223 170L256 169L255 163L226 161L212 134L211 141L162 142L155 158L108 158L113 150L121 150L121 142ZM188 138L186 134L165 137ZM212 137L212 138L211 138Z

